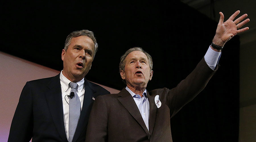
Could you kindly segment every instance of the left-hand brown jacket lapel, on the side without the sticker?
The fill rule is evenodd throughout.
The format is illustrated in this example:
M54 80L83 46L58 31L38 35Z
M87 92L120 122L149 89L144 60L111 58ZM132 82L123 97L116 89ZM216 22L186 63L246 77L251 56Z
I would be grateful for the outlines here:
M141 127L146 132L149 139L150 133L145 125L145 122L143 121L141 113L135 101L133 100L133 97L131 96L131 94L125 88L123 88L118 93L118 96L120 96L120 98L118 98L119 102L127 109L127 111L133 116L133 118L141 125Z

